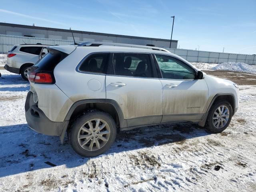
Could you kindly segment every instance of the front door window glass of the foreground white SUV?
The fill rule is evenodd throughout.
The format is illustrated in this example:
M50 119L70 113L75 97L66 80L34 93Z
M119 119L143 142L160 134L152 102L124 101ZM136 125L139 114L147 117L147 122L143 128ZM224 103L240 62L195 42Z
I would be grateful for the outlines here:
M156 55L164 79L194 79L195 71L184 62L170 56Z

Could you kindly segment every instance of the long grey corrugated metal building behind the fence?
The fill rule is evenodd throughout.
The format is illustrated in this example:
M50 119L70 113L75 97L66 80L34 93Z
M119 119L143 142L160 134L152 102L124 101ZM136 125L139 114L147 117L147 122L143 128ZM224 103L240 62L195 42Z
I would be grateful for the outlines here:
M10 24L0 22L0 34L14 35L14 36L34 36L37 38L50 38L73 40L70 30L47 28L38 26L28 26L20 24ZM137 36L126 36L116 34L106 34L97 32L77 31L73 30L74 38L76 41L100 41L100 42L114 42L114 43L127 43L147 45L153 44L156 47L169 47L170 40L159 38L146 38ZM172 48L177 48L178 40L172 40Z

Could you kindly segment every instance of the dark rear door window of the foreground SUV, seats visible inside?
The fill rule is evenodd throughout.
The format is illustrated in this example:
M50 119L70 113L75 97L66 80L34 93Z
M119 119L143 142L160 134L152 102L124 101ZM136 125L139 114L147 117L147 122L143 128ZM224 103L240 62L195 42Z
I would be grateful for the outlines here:
M153 77L149 54L114 53L116 75L134 77Z

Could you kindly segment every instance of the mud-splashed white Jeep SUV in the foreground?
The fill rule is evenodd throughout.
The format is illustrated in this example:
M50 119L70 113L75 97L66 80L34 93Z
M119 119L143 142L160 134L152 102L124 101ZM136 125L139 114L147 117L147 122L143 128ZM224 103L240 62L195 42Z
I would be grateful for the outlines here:
M65 133L82 156L102 154L122 130L198 122L214 133L238 109L238 86L149 46L87 42L52 46L28 72L28 126Z

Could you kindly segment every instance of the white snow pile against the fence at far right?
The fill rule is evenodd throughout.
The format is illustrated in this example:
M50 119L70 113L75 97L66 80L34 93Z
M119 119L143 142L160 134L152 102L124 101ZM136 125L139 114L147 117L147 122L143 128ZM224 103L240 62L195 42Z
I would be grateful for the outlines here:
M246 63L236 62L224 62L212 68L212 70L230 70L230 71L242 71L256 74L256 66L248 65Z

